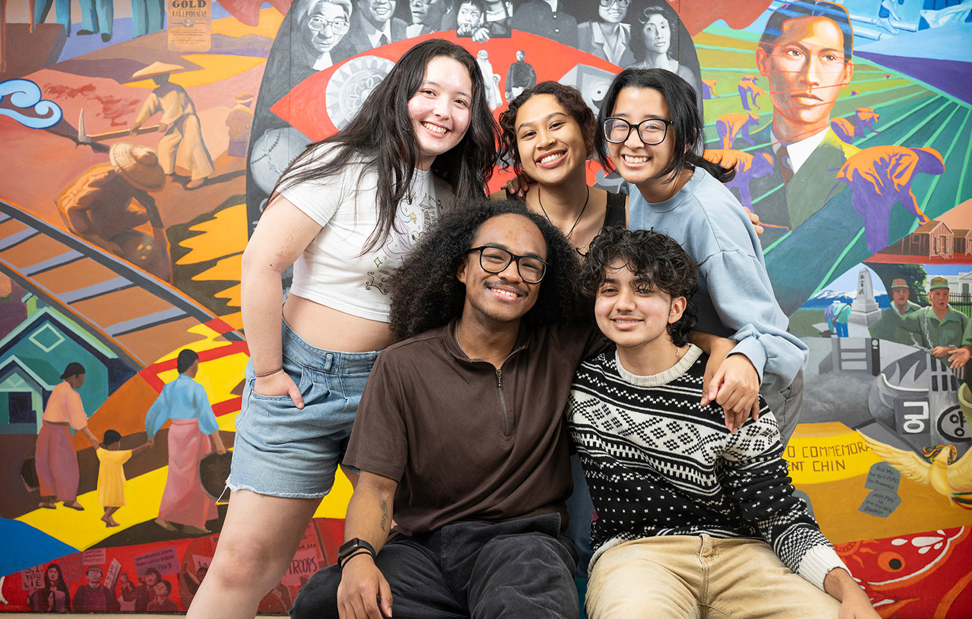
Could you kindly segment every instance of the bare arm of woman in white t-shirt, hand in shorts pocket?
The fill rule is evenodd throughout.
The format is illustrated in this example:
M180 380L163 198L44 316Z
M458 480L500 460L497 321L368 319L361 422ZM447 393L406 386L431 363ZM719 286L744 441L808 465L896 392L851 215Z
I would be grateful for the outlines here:
M263 211L260 224L243 252L240 305L250 358L257 374L283 366L280 276L320 231L320 224L289 200L277 196ZM258 378L256 391L261 395L290 394L295 406L303 408L297 385L285 372Z

